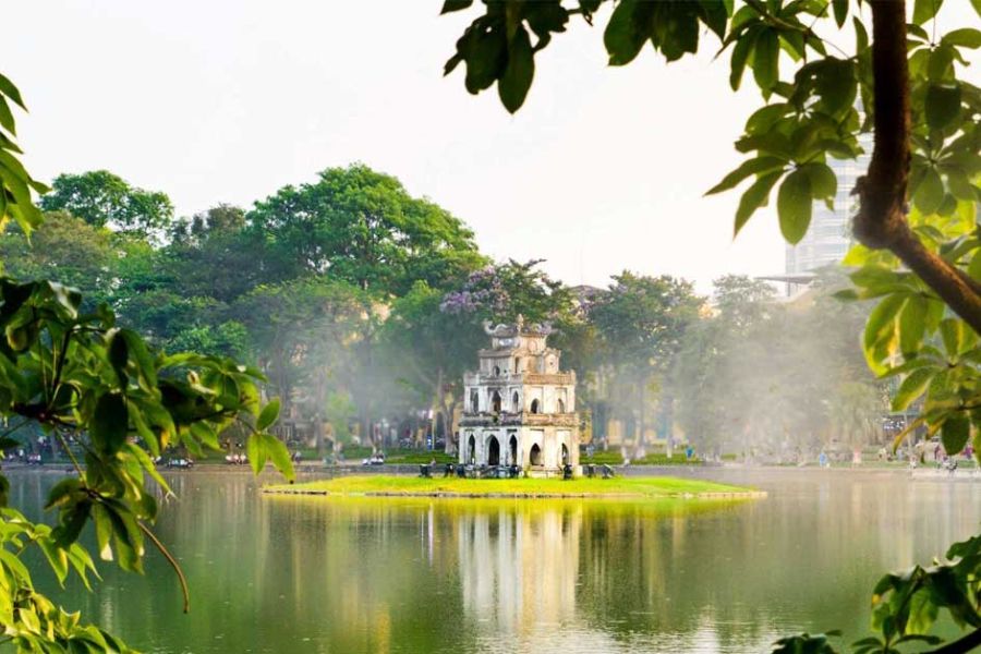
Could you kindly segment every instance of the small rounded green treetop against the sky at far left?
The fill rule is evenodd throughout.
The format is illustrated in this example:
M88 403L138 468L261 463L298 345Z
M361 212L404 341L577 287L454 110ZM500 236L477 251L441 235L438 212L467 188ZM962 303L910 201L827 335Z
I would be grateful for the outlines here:
M46 211L68 211L94 227L152 240L159 240L173 217L165 193L132 186L108 170L59 174L39 204Z

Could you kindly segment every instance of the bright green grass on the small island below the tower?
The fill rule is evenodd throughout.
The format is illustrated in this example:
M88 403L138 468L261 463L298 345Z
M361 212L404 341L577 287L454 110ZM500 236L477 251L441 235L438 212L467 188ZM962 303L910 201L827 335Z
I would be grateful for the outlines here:
M461 480L352 475L305 484L266 486L267 493L337 496L443 497L738 497L762 495L753 488L676 477Z

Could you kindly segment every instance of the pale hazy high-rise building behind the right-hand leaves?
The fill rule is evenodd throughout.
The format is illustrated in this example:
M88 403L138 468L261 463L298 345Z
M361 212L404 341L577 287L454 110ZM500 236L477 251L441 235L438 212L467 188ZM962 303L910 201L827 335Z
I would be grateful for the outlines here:
M872 158L872 144L860 140L865 154L857 159L829 159L828 166L838 179L835 208L831 210L823 202L815 202L811 216L811 228L797 245L787 245L787 276L801 276L819 268L835 265L851 247L851 216L857 198L851 195L855 183L865 174Z

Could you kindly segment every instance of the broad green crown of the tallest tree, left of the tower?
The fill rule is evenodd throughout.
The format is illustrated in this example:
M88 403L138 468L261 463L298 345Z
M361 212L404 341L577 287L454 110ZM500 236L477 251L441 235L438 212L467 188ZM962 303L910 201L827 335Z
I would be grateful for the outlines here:
M284 186L257 202L247 220L271 244L267 265L290 277L329 271L379 296L405 293L419 279L443 288L482 261L457 218L362 165Z

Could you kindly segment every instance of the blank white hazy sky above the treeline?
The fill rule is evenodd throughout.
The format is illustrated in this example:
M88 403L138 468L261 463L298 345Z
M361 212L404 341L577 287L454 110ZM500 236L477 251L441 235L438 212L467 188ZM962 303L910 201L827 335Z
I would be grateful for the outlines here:
M511 117L496 90L465 92L462 66L443 77L468 16L440 5L11 2L3 73L31 108L20 143L40 179L106 168L180 215L362 161L451 210L491 255L545 258L569 283L629 268L707 290L725 272L783 271L772 213L734 242L738 193L702 197L739 164L731 143L761 104L752 84L729 92L714 37L697 59L645 49L614 69L605 17L573 21Z

